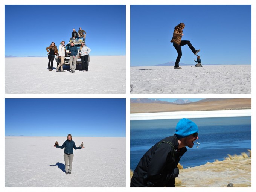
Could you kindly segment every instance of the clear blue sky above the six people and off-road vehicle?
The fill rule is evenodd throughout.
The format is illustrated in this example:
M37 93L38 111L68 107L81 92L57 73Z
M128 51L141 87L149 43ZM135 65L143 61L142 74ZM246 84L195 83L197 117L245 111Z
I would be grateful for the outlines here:
M5 55L47 56L79 27L91 56L125 55L125 5L5 5L5 42L22 45L5 43Z

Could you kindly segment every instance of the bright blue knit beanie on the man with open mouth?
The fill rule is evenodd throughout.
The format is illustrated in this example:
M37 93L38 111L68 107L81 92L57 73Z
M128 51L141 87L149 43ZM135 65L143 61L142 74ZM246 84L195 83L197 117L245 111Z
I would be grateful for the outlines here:
M194 122L183 118L177 123L175 134L178 138L184 138L193 133L198 133L198 127Z

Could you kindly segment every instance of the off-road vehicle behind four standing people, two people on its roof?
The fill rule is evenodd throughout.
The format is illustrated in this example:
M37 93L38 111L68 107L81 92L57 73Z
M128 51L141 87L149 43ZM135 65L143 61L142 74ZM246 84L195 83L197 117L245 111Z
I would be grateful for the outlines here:
M84 41L82 41L82 40L73 41L73 43L75 44L75 46L78 49L78 58L77 58L77 61L76 61L76 66L79 66L79 64L82 64L82 61L81 61L81 58L80 58L80 56L81 56L80 46L81 46L81 43L83 43L83 42ZM70 46L71 46L70 43L71 43L71 41L65 46L67 54L65 56L63 65L68 65L69 66L69 59L70 59L69 49L70 49ZM57 65L61 62L61 59L59 58L59 53L57 54L57 56L55 58L55 61L57 62ZM89 65L89 61L90 61L90 55L88 55L88 65Z

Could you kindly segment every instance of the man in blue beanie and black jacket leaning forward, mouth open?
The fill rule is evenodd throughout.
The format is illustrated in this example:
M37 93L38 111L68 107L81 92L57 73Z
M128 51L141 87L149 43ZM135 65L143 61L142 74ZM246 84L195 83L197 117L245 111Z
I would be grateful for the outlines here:
M152 146L140 159L131 178L131 187L175 187L180 158L198 139L198 127L189 119L181 119L173 136Z

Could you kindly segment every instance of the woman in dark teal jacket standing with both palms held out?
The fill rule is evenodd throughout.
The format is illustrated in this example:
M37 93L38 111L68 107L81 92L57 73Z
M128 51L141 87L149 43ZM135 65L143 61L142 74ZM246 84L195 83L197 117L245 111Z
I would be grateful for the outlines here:
M64 149L64 161L65 161L65 171L66 175L71 174L72 171L72 162L74 157L73 148L76 149L83 149L84 147L76 147L75 142L72 140L72 135L67 135L67 140L63 143L62 146L54 145L56 148Z

